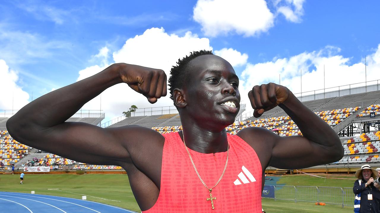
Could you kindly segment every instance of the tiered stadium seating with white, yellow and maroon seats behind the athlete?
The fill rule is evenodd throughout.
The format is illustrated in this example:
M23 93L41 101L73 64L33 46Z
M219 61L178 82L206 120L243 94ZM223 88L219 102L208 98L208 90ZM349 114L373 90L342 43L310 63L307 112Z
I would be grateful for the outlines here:
M379 97L380 91L375 91L303 103L314 111L317 116L323 119L323 121L331 127L334 127L350 116L350 118L365 117L369 116L371 112L380 114L380 104L374 104L379 102ZM6 120L7 118L0 118L0 125L3 124L5 126ZM80 121L94 124L97 120L98 118L72 117L67 121ZM143 127L152 128L160 133L178 132L182 130L179 114L128 117L109 127L119 127L123 125L141 125ZM302 135L298 126L280 107L275 107L265 112L259 119L247 117L243 121L235 121L226 127L226 131L231 134L236 134L239 130L246 127L266 128L280 136ZM15 153L20 151L28 153L29 147L17 143L6 130L1 130L0 128L0 159L9 165L9 162L17 162L20 159L15 156ZM345 150L345 157L337 161L336 164L380 162L380 131L344 138L342 139L342 146ZM63 165L73 166L74 169L121 169L120 166L79 163L51 153L46 154L44 158L46 158L50 165L58 160ZM41 159L40 163L42 162L43 159Z

